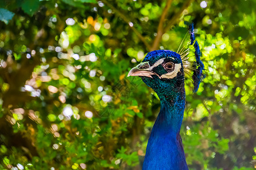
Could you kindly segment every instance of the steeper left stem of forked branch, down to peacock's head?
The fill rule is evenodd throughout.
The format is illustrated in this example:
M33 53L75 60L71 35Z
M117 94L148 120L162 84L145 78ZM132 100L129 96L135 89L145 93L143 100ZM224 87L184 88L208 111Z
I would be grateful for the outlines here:
M164 34L163 23L164 23L164 20L166 19L166 15L168 14L168 10L171 7L171 3L172 3L172 0L167 0L166 7L164 7L163 13L160 18L160 22L158 24L158 32L157 32L155 40L150 48L150 51L156 50L158 48L160 40L162 39L162 35Z

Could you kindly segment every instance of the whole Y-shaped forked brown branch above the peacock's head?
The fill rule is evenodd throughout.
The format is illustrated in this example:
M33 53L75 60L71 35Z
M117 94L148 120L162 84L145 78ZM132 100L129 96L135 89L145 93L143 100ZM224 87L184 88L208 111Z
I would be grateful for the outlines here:
M166 27L163 28L164 18L166 17L164 15L167 14L168 8L170 8L170 6L168 7L167 5L168 5L168 3L171 2L171 0L167 0L166 7L164 8L163 14L161 16L161 19L160 19L160 22L158 25L158 35L155 37L153 45L150 48L151 51L158 49L158 46L160 44L163 34L166 33L168 31L168 29L170 29L172 27L172 25L176 24L177 19L179 19L182 12L185 10L185 8L187 8L192 3L192 1L193 0L187 0L187 2L185 2L183 4L183 6L180 8L180 10L174 16L172 16L171 20L166 24Z

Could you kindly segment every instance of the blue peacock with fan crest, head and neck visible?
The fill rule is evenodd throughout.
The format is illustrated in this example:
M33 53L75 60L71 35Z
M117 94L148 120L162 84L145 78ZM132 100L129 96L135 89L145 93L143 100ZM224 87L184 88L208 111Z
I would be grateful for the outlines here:
M193 91L196 92L204 78L204 64L200 60L193 23L185 22L185 26L195 50L195 62L188 62L189 50L185 48L179 48L177 53L154 50L128 74L141 77L160 99L160 112L148 139L142 169L188 169L180 137L185 108L184 73L192 71Z

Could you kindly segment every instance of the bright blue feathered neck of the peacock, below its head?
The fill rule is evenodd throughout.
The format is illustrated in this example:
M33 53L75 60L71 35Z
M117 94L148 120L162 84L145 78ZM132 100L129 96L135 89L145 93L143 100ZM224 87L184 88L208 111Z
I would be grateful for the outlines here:
M188 169L180 138L185 90L159 95L161 108L147 143L143 169Z

